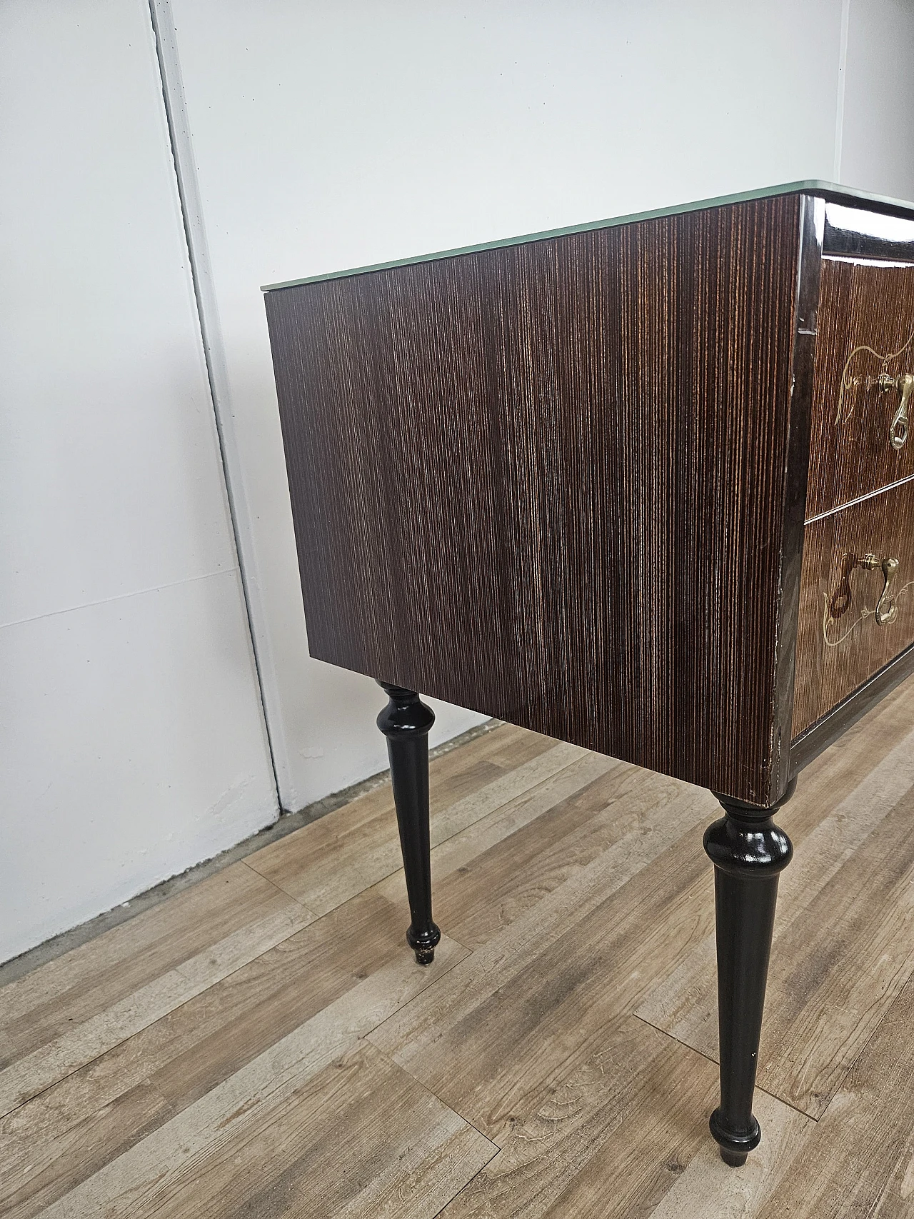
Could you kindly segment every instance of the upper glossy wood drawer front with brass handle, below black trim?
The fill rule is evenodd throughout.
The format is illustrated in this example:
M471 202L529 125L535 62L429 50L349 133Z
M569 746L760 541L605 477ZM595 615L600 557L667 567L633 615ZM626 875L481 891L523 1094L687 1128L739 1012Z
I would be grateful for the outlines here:
M823 258L807 519L914 474L914 438L890 435L905 388L914 422L914 251Z

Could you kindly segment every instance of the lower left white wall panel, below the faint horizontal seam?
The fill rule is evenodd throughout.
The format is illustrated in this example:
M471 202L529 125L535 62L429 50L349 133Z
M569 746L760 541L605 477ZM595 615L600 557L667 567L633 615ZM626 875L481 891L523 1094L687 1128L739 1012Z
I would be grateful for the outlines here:
M236 570L0 630L0 961L274 817Z

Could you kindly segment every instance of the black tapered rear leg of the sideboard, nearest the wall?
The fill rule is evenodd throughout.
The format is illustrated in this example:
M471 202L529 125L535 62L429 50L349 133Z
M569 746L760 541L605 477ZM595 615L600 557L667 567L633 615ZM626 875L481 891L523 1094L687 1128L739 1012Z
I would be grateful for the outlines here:
M403 852L406 891L412 923L406 933L420 965L435 959L441 933L431 920L431 859L429 848L429 729L435 713L414 690L379 681L390 702L378 716L388 737L390 779Z

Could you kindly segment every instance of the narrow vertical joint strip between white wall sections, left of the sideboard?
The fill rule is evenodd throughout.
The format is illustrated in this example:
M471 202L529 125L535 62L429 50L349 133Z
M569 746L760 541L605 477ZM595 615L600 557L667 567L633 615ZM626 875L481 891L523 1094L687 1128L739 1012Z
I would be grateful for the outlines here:
M216 368L216 350L218 349L218 351L222 352L222 339L219 335L216 300L211 286L212 274L210 273L210 256L206 247L206 236L202 224L200 188L196 178L193 154L189 156L183 155L190 154L191 144L188 127L186 104L184 100L184 84L180 76L180 63L174 40L175 27L171 9L171 0L149 0L149 13L152 23L152 40L155 43L158 76L162 85L162 101L165 104L165 116L168 127L168 143L171 145L174 178L178 187L178 202L180 206L182 226L184 228L184 243L188 250L190 278L194 288L197 327L200 328L200 340L204 349L206 377L210 385L213 419L216 422L222 477L225 488L229 519L232 522L235 557L238 560L238 568L241 575L241 596L247 619L247 633L251 640L251 657L253 659L253 669L257 679L257 695L260 698L263 736L267 744L267 752L273 774L277 807L282 813L283 797L279 785L277 756L263 690L263 661L260 656L257 646L257 634L255 631L253 616L251 611L250 573L246 569L245 556L239 534L238 501L239 499L244 499L244 494L238 486L234 485L229 474L229 463L227 460L225 434L221 410L223 397L225 397L225 395L221 393L218 388L221 378ZM224 380L224 378L222 379Z

